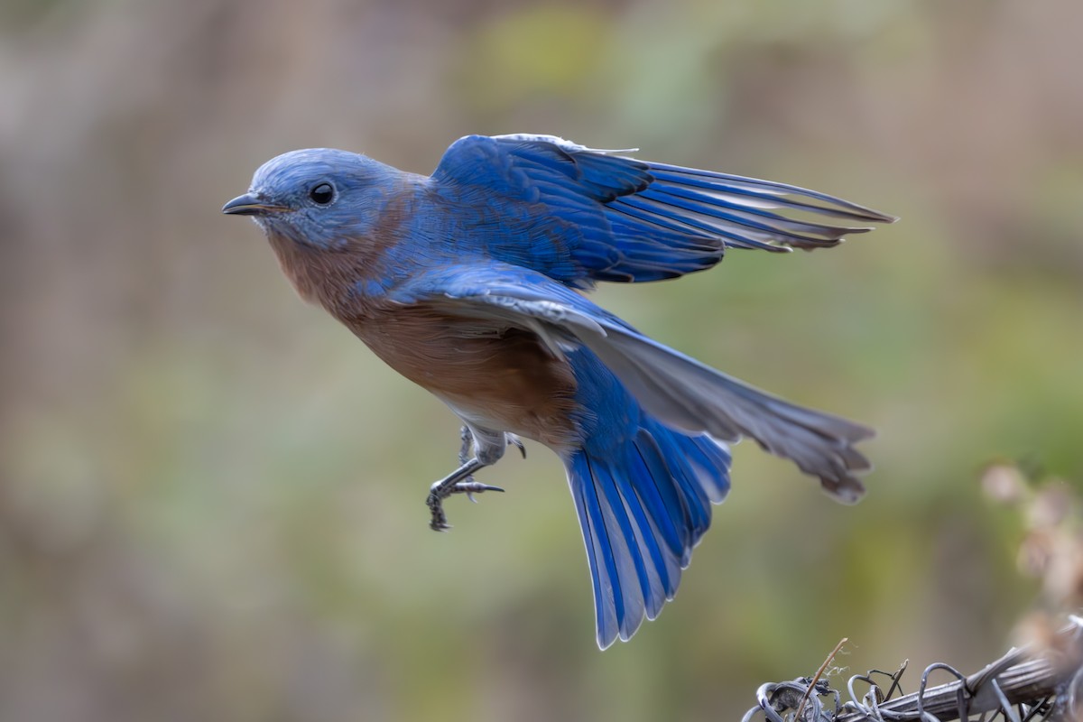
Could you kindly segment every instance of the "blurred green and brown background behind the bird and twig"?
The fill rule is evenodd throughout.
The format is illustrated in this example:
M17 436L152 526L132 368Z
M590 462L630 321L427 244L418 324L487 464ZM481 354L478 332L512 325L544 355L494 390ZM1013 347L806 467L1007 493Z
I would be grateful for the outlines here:
M1083 478L1081 26L1074 0L3 0L0 720L723 720L841 636L852 671L999 656L1040 585L982 470ZM288 149L429 172L473 132L902 216L596 297L876 426L865 501L739 446L678 599L605 653L546 449L431 533L455 418L220 208Z

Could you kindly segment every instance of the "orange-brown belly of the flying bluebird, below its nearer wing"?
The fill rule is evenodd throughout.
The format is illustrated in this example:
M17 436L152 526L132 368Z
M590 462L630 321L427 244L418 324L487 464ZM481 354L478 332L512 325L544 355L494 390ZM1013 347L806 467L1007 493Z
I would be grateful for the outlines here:
M558 449L574 443L575 378L532 331L486 327L425 305L348 325L389 366L467 421Z

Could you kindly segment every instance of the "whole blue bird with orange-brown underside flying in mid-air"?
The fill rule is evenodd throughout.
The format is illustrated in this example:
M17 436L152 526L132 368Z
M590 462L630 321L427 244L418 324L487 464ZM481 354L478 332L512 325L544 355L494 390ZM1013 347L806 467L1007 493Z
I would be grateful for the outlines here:
M586 548L598 646L677 592L754 439L844 503L873 431L670 349L593 303L598 283L713 267L729 249L831 248L891 215L804 187L589 148L467 135L431 175L332 148L279 155L222 208L252 218L287 278L461 421L430 526L522 438L562 460ZM524 454L525 456L525 454Z

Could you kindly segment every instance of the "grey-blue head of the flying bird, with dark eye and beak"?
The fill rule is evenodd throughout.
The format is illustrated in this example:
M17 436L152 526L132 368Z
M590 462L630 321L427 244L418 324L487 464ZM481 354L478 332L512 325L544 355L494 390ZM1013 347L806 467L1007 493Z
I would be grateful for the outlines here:
M268 235L339 248L374 231L405 175L347 150L291 150L263 163L222 212L251 215Z

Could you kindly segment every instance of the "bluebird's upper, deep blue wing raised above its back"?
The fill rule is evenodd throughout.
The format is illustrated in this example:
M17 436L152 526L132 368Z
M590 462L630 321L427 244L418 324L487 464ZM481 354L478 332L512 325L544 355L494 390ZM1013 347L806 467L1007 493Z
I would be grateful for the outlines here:
M826 248L871 229L854 223L895 221L793 185L617 155L629 152L468 135L432 180L459 242L580 288L702 271L726 248Z

